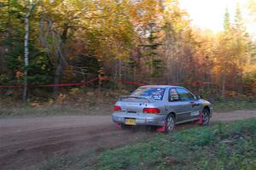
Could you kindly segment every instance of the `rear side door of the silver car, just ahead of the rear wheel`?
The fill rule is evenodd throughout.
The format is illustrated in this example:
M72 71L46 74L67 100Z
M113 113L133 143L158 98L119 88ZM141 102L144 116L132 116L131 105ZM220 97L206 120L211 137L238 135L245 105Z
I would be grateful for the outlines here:
M176 113L176 122L185 122L191 114L191 104L187 91L183 88L170 88L168 111Z

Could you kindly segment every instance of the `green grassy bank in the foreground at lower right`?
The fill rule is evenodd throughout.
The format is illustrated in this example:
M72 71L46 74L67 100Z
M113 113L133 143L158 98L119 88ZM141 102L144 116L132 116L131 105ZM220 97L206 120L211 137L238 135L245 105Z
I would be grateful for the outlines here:
M108 150L96 169L256 169L256 119L160 135Z

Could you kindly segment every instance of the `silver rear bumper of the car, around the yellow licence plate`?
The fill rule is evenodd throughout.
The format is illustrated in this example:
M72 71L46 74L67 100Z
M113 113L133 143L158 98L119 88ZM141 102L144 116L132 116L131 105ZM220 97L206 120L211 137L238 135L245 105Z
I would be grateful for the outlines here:
M166 116L154 115L154 114L136 115L136 114L126 114L122 112L115 112L112 115L113 122L120 122L125 124L126 118L135 119L136 125L152 125L152 126L163 127Z

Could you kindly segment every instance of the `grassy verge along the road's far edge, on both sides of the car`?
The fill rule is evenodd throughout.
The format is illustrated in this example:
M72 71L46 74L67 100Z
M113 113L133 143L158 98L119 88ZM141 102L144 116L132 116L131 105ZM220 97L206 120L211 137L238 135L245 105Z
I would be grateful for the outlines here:
M114 103L114 101L112 102ZM212 103L216 112L235 111L235 110L255 110L256 100L253 101L232 101L224 100ZM61 115L110 115L113 104L100 104L84 106L76 105L0 105L0 118L13 116L61 116Z

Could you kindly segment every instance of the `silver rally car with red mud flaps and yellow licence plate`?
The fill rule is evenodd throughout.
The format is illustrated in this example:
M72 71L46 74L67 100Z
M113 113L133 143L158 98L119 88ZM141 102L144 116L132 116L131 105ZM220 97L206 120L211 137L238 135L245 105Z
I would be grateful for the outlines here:
M198 120L207 125L212 116L210 102L186 88L166 85L137 88L131 95L121 96L113 110L113 122L120 126L150 125L166 133L183 122Z

